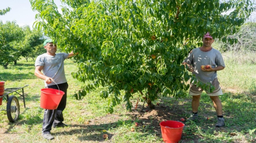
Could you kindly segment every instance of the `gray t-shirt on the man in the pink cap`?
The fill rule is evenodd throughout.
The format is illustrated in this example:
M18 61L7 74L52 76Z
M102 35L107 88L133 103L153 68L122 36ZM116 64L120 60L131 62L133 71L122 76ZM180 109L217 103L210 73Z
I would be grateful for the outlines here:
M195 70L192 74L204 83L211 83L217 78L217 71L206 72L201 70L201 65L211 65L212 68L217 66L225 67L224 60L220 51L211 49L208 52L203 52L199 48L193 49L188 57L183 61L192 65Z

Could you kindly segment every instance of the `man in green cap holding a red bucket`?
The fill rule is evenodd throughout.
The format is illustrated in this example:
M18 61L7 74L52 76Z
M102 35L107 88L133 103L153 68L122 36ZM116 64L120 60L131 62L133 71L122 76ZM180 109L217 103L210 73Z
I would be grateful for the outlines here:
M42 134L45 139L52 140L54 139L50 133L52 127L68 126L63 123L64 118L62 114L66 107L68 89L64 71L64 60L74 56L75 54L73 52L69 54L56 53L57 46L51 39L44 41L44 49L46 49L47 52L36 58L35 75L44 80L45 88L60 89L65 92L57 109L44 110Z

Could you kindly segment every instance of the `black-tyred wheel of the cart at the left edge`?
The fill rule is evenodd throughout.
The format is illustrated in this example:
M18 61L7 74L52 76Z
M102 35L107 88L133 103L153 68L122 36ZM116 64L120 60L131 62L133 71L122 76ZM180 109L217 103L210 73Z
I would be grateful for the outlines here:
M8 98L6 112L10 122L13 123L19 119L19 101L16 96Z

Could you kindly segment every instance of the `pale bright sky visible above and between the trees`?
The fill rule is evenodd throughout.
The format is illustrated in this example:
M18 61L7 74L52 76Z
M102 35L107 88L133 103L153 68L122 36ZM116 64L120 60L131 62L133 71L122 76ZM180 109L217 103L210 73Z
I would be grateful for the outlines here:
M62 5L60 0L55 0L54 2L58 8ZM33 23L36 21L35 14L38 12L32 10L29 0L0 0L0 9L2 10L7 7L11 8L11 10L5 15L0 15L0 20L2 20L3 23L6 21L16 21L19 26L29 25L32 29ZM256 17L255 13L252 15Z

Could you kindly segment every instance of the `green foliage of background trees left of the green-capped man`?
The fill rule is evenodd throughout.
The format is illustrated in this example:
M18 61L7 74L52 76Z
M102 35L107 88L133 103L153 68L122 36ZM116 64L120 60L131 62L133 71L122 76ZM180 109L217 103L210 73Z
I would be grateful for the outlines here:
M41 31L30 30L29 26L19 27L14 21L0 21L0 65L6 66L20 56L35 58L45 52Z

